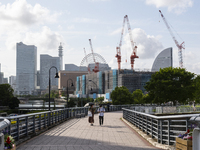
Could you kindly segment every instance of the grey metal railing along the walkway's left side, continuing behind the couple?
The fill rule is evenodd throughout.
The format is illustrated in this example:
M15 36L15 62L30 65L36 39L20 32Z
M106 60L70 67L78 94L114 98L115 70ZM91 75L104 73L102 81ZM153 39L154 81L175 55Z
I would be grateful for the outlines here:
M122 108L130 108L130 105L110 106L109 111L118 111L122 110ZM35 135L37 132L42 130L49 129L60 122L64 122L70 118L75 118L77 115L80 116L80 114L86 116L88 114L88 108L65 108L40 113L5 117L11 122L11 125L6 127L6 130L9 135L18 141L31 135Z

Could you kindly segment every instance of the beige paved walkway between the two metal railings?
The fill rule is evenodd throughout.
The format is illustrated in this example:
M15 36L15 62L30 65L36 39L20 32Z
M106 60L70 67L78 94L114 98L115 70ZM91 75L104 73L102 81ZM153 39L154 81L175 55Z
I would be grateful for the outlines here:
M17 150L158 150L120 118L121 111L105 113L103 126L98 115L94 126L87 117L71 119L19 145Z

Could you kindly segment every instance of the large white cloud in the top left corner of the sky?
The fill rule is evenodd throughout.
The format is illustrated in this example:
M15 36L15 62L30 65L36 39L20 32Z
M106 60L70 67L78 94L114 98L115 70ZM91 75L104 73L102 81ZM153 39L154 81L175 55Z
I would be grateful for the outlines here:
M34 24L55 22L59 14L50 11L40 4L32 6L26 0L16 0L12 4L0 4L0 33L25 30Z

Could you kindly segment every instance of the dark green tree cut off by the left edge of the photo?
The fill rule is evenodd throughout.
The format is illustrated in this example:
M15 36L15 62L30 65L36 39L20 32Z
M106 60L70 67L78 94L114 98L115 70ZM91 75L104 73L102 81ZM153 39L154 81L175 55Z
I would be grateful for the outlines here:
M9 84L0 84L0 106L8 106L14 90Z

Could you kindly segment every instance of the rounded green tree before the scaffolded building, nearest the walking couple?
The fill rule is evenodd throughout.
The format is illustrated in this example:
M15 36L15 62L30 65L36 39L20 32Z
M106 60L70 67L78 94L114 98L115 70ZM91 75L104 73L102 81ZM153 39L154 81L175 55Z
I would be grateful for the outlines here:
M129 90L125 87L116 87L111 93L113 105L132 104L133 97Z

